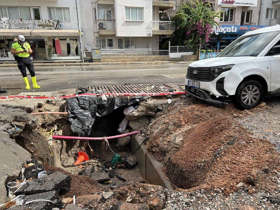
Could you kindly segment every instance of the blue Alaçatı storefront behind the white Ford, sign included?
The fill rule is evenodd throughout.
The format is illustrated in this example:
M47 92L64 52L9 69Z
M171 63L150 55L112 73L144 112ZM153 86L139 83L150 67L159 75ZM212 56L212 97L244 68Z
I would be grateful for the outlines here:
M207 48L211 50L223 50L239 36L268 26L248 26L248 25L220 25L219 28L214 27L212 36Z

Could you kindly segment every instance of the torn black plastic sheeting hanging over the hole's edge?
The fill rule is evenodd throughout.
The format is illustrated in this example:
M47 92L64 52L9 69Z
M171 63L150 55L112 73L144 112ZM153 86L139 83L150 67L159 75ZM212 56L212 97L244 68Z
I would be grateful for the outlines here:
M95 118L110 114L121 106L130 106L150 96L109 97L102 101L100 97L75 97L66 100L68 120L71 130L84 136L94 124Z

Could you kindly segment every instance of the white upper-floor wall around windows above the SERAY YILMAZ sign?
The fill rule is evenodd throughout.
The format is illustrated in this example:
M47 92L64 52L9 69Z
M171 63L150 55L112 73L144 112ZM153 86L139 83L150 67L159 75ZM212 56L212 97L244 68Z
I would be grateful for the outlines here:
M49 20L47 7L67 7L70 13L70 22L62 22L61 29L78 29L76 3L74 0L57 0L57 1L36 1L36 0L0 0L0 6L25 6L40 7L41 19Z

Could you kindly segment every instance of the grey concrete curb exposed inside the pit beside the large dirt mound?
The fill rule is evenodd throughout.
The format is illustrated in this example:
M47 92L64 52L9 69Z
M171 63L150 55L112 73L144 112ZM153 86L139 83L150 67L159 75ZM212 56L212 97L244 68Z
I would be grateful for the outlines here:
M141 136L131 137L131 151L135 151L142 143ZM141 176L153 185L160 185L168 190L173 190L171 183L165 178L162 171L163 164L155 160L153 155L145 148L144 144L134 155L137 157L137 164Z

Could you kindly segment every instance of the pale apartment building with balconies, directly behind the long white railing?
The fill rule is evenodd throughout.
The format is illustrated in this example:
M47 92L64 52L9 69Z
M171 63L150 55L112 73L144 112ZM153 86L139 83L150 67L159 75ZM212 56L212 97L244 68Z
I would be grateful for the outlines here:
M159 49L161 35L174 32L174 22L159 13L175 0L84 0L81 4L83 41L102 49Z

